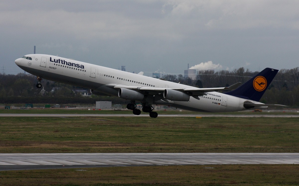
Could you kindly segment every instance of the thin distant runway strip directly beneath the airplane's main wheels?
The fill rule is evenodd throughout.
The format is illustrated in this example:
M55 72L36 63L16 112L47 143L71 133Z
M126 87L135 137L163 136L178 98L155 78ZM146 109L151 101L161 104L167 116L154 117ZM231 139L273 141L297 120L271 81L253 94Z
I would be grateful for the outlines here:
M148 114L0 114L0 117L149 117ZM297 114L159 114L158 117L239 117L239 118L291 118L299 117Z

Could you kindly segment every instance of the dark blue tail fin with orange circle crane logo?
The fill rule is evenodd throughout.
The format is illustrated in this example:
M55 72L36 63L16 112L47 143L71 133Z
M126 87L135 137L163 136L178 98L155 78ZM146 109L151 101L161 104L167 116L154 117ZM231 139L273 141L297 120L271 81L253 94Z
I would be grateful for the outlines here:
M253 101L260 101L269 84L277 74L278 70L272 68L265 68L249 81L242 84L236 90L227 92L225 94L236 96L239 98L250 99Z

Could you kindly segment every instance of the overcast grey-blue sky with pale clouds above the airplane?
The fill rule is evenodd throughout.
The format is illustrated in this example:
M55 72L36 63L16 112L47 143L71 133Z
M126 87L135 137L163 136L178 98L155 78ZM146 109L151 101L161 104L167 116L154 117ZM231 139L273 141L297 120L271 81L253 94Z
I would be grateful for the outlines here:
M0 1L0 73L26 54L129 72L299 66L299 1Z

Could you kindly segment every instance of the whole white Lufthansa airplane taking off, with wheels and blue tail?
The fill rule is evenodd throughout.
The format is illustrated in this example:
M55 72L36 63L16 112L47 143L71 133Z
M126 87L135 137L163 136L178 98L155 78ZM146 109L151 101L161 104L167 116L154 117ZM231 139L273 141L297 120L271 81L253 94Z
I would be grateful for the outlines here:
M197 88L163 79L115 70L90 63L75 61L45 54L29 54L16 59L23 70L37 76L41 88L42 79L89 88L91 93L101 96L118 96L130 100L127 108L139 115L135 101L142 103L142 111L156 118L153 104L199 112L235 112L256 108L267 108L259 100L278 70L266 68L248 82L229 87ZM235 89L226 93L218 91Z

